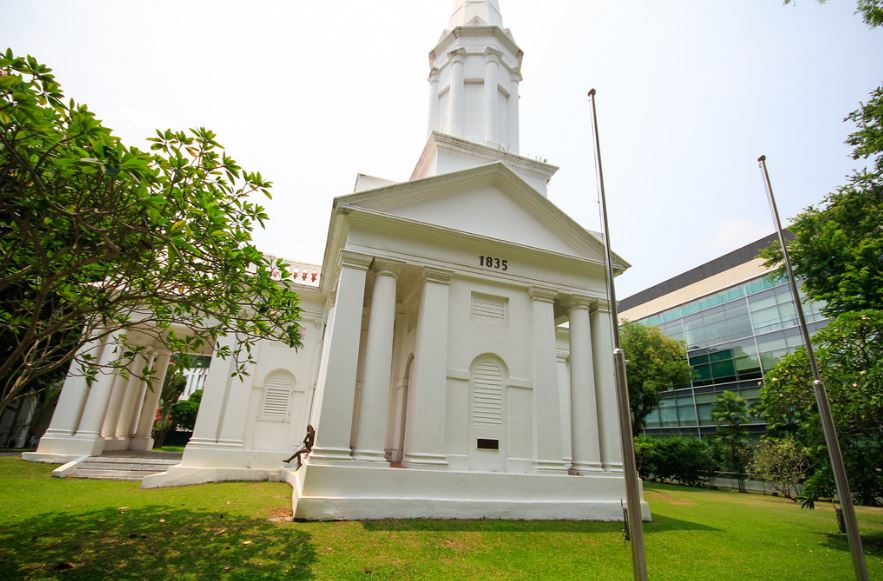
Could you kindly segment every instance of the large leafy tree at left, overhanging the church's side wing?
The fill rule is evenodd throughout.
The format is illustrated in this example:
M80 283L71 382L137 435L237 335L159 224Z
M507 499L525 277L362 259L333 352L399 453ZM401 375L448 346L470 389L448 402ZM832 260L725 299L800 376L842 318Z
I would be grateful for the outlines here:
M0 411L71 361L94 379L84 346L105 337L125 372L141 349L127 331L172 352L233 335L216 354L239 373L260 339L300 345L285 264L252 242L270 182L210 130L150 141L125 146L46 66L0 54Z

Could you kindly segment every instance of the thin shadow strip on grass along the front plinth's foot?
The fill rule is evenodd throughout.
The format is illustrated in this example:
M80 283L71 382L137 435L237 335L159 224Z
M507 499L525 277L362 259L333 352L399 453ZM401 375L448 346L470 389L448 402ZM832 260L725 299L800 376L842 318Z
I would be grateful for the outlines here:
M366 520L368 531L468 531L495 533L620 533L622 522L573 520ZM714 527L667 516L644 523L648 533L665 531L720 531Z

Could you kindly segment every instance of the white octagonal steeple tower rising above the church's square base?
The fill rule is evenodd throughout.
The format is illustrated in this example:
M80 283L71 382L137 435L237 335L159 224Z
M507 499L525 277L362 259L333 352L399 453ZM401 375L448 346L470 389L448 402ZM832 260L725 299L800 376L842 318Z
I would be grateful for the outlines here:
M523 53L498 0L455 0L449 26L429 53L429 132L518 153Z

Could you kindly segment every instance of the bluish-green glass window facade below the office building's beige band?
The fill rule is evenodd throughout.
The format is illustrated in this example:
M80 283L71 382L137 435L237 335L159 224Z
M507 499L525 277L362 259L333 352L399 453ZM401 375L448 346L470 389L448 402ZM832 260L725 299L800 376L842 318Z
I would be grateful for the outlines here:
M810 332L824 326L823 303L801 292ZM689 383L667 392L645 421L649 434L707 434L715 430L711 410L730 390L749 404L760 396L763 374L801 345L797 311L787 281L761 276L637 321L684 341L693 368ZM763 422L751 418L761 432Z

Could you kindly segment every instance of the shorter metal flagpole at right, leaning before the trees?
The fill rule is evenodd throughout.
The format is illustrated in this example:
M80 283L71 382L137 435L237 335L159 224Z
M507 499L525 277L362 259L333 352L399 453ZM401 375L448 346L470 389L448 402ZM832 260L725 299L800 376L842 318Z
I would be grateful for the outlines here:
M800 294L797 292L797 281L794 278L794 270L791 268L791 259L788 256L788 246L785 244L785 235L782 232L779 209L776 207L776 198L773 196L773 187L770 184L770 174L766 167L766 156L761 155L757 158L757 162L760 165L760 171L763 176L767 199L770 203L770 212L773 215L773 223L776 226L776 234L779 236L779 245L782 247L782 260L785 263L785 272L788 275L788 284L791 287L791 297L794 299L794 307L797 310L797 320L800 323L803 346L806 348L809 366L812 369L813 390L815 391L816 403L819 408L822 430L825 433L825 443L828 445L828 457L831 460L831 468L834 472L834 483L837 486L837 496L840 498L840 509L843 511L843 520L846 521L849 550L852 553L852 567L855 570L856 579L867 581L868 570L865 566L865 556L862 552L862 538L859 533L858 520L855 517L855 507L852 505L852 494L849 491L849 480L846 477L843 455L840 452L840 443L837 439L837 428L834 426L834 416L831 414L828 392L819 375L819 367L816 363L816 356L809 338L806 317L803 315L803 305L800 302Z

